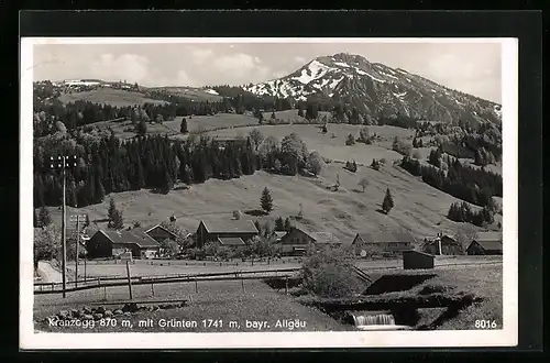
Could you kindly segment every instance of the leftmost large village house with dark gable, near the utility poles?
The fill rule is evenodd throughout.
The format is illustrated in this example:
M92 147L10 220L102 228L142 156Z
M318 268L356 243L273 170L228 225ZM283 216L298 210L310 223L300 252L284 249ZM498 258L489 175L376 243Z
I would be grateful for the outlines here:
M117 257L127 252L133 258L152 258L160 245L143 231L97 231L86 243L88 258Z

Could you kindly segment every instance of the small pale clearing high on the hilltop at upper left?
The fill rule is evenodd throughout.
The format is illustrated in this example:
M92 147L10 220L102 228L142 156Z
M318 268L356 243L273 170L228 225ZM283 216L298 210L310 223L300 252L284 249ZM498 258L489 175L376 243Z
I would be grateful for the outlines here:
M143 94L112 88L98 88L96 90L64 94L59 100L66 105L78 100L92 103L105 103L116 107L128 107L143 103L166 103L165 101L154 100Z

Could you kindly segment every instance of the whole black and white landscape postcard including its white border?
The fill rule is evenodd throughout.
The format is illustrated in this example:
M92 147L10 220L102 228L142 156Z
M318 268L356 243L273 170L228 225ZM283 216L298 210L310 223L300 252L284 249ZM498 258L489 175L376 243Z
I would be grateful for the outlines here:
M517 343L515 40L21 52L29 346Z

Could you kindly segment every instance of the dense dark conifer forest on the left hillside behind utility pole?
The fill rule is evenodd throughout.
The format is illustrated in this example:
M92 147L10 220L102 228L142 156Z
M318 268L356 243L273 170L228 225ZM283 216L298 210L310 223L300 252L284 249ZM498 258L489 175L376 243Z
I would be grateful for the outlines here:
M179 182L204 183L253 174L256 158L250 141L226 147L201 138L195 144L167 136L145 136L121 142L112 134L95 143L77 138L44 147L35 145L34 204L59 206L62 177L50 169L50 157L76 155L78 166L67 169L67 205L99 204L110 193L151 188L168 193Z

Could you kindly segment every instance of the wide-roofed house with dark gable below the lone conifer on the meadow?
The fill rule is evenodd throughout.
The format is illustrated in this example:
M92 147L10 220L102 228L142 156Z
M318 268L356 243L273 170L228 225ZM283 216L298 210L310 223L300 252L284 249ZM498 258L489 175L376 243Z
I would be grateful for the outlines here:
M241 239L244 244L258 233L251 220L201 220L195 233L195 240L198 249L210 242L221 243L221 245L240 243L229 239Z

